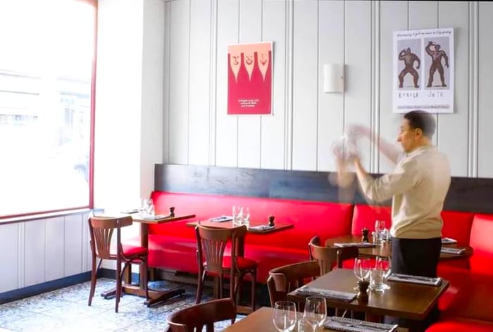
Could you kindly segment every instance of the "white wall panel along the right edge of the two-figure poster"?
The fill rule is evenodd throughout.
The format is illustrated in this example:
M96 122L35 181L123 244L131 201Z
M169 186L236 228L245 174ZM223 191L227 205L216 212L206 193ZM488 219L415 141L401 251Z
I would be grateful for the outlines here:
M447 155L453 177L468 175L469 113L469 5L466 1L439 1L439 27L454 27L454 113L438 115L437 145ZM428 55L426 55L428 56ZM423 62L424 63L424 62ZM463 127L456 131L454 128ZM452 143L453 142L453 143Z

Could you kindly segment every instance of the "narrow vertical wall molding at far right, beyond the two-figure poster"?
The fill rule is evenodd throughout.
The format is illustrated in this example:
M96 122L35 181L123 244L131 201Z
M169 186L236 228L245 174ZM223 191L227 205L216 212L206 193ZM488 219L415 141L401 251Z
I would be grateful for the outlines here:
M479 4L469 2L468 177L478 177Z

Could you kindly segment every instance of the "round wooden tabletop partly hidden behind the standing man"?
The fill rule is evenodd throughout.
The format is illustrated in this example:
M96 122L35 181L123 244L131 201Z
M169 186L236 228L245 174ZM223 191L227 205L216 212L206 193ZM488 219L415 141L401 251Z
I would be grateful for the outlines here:
M353 243L361 242L361 236L357 235L344 235L337 236L337 238L328 238L325 241L325 246L334 247L334 243ZM457 245L454 244L442 244L444 248L465 248L466 252L462 255L454 255L447 253L440 253L440 260L460 260L461 258L469 257L473 255L473 248L469 245ZM392 245L390 243L383 243L382 245L375 245L374 247L358 248L359 255L362 257L390 257L392 255Z

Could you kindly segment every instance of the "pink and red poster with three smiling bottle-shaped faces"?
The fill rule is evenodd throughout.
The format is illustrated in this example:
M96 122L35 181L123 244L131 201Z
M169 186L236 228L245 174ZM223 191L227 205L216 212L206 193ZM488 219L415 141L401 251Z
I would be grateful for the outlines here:
M227 114L272 114L272 42L227 46Z

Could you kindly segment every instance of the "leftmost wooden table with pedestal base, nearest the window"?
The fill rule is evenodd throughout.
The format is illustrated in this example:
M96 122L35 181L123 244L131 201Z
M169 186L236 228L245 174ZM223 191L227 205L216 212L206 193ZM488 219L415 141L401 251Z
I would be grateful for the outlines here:
M143 219L140 215L132 215L132 219L134 222L138 222L140 224L140 245L141 247L144 248L149 248L149 225L153 224L165 224L168 222L177 222L180 220L184 219L190 219L194 218L195 215L182 215L182 216L175 216L175 217L163 217L159 219ZM144 275L142 265L139 266L139 276ZM142 278L139 278L139 285L134 285L130 283L132 271L129 269L127 272L127 277L125 278L125 283L123 283L122 286L122 291L123 293L127 294L132 294L132 295L138 295L145 297L146 293L144 290L144 283L146 283L148 280L144 280ZM149 274L148 274L149 275ZM149 279L149 278L148 278ZM101 293L101 296L104 296L104 298L107 298L108 296L115 295L116 290L109 290L107 292ZM169 298L174 298L177 295L181 295L185 293L185 290L183 289L172 289L172 290L148 290L149 293L149 299L146 300L144 303L147 305L147 307L154 305L158 302L163 302L168 300Z

